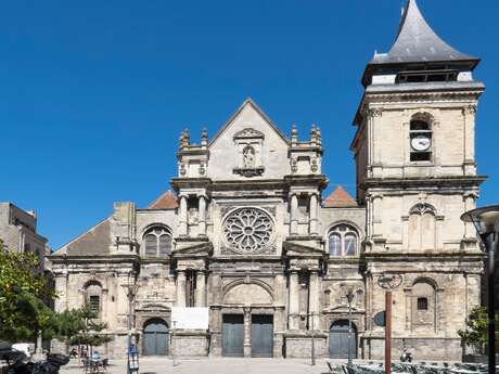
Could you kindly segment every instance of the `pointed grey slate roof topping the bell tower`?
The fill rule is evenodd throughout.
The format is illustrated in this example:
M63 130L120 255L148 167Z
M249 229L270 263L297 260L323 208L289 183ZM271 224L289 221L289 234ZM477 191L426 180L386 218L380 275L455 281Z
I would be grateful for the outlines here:
M388 53L375 54L371 64L455 61L472 61L476 66L479 60L442 40L424 20L415 0L409 0L394 46Z

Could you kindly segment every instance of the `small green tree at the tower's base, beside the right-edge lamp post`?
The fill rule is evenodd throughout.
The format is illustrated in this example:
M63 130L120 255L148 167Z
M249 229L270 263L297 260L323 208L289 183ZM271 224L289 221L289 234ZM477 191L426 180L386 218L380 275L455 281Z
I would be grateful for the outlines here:
M458 334L463 343L472 347L475 353L484 354L487 343L488 317L487 309L475 307L471 310L466 321L466 328L459 330Z

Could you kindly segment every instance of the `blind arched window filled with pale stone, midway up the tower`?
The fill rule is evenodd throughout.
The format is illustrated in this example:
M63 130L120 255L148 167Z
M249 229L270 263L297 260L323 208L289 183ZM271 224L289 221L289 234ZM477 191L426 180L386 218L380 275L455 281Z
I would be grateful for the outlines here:
M409 211L409 249L436 247L436 211L430 204L418 204Z

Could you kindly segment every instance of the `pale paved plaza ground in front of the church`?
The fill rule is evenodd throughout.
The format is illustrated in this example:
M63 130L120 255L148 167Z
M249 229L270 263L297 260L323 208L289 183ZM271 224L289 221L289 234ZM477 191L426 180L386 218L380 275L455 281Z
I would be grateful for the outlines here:
M333 361L345 362L345 361ZM216 358L201 360L178 360L174 366L171 359L143 358L140 360L140 374L156 373L195 373L195 374L325 374L328 373L325 360L317 360L315 366L309 360L290 359L239 359L239 358ZM61 369L61 374L81 374L82 369L76 360ZM125 360L112 360L107 369L108 374L126 374Z

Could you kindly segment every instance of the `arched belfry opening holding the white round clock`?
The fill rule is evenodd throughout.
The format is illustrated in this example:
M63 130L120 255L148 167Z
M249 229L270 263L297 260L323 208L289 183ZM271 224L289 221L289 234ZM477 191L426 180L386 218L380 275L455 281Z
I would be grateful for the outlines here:
M410 121L410 160L432 160L432 128L426 115L415 115Z

